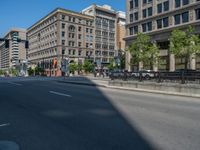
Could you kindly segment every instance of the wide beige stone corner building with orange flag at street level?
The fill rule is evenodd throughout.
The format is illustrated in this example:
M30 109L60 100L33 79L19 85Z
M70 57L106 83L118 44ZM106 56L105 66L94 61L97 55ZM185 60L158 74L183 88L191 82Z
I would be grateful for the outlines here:
M28 28L28 59L47 75L60 76L62 59L94 60L94 17L57 8Z

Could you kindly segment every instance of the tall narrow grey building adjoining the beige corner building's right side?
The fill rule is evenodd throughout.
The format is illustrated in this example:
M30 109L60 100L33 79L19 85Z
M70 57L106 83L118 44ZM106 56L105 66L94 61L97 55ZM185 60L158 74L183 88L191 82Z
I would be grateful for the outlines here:
M104 66L117 54L117 12L108 5L91 5L82 11L94 17L95 62Z

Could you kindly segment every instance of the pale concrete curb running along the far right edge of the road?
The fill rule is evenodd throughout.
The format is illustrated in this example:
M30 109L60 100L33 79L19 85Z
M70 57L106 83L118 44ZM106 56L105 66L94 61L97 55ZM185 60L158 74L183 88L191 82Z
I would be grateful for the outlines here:
M126 90L126 91L136 91L136 92L146 92L146 93L153 93L153 94L163 94L163 95L173 95L173 96L182 96L182 97L191 97L191 98L200 98L200 95L189 95L189 94L181 94L181 93L173 93L173 92L165 92L165 91L156 91L156 90L146 90L146 89L138 89L138 88L122 88L117 86L109 86L109 85L102 85L96 83L84 83L84 82L73 82L73 81L57 81L60 83L68 83L68 84L75 84L75 85L86 85L86 86L95 86L95 87L104 87L104 88L112 88L118 90Z

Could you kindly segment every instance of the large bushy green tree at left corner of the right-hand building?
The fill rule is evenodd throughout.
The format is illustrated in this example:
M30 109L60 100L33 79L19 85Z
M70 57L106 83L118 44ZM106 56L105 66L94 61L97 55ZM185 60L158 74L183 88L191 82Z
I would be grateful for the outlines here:
M148 35L138 33L136 40L128 48L132 56L131 65L144 66L157 65L159 59L159 49L157 44L152 43Z

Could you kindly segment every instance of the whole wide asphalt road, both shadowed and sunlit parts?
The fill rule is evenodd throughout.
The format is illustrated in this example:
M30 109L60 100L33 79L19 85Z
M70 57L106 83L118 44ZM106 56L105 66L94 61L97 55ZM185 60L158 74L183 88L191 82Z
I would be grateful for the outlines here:
M200 100L0 82L0 150L199 150Z

